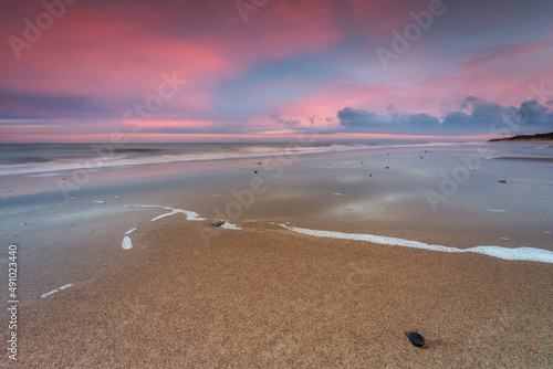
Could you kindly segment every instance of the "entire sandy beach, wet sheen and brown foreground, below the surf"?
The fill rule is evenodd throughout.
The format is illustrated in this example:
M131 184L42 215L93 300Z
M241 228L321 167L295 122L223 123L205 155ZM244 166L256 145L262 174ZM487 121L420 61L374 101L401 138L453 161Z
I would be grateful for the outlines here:
M21 270L19 360L9 365L551 367L552 263L411 246L552 250L551 204L534 201L551 199L551 164L515 160L508 177L507 159L488 160L434 212L424 190L456 168L453 151L304 155L278 178L267 158L158 165L155 180L137 167L101 171L69 201L52 191L4 199L2 240L18 244ZM240 214L226 211L257 177L265 191ZM211 225L217 209L227 228Z

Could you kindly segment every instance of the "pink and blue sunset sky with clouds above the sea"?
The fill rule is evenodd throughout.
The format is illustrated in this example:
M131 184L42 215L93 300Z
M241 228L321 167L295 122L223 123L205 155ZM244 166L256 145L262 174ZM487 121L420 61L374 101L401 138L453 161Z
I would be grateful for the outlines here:
M551 0L0 1L0 143L553 130Z

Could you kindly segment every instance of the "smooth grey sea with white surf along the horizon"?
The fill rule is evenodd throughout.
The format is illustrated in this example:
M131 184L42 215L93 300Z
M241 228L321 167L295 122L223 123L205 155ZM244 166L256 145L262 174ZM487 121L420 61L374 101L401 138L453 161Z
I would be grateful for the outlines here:
M0 176L58 176L60 171L152 164L209 161L293 156L352 150L378 150L442 146L473 149L481 146L491 157L508 150L513 157L551 158L551 144L428 143L384 140L375 143L127 143L127 144L0 144ZM498 150L499 148L499 150ZM494 151L498 151L497 154Z

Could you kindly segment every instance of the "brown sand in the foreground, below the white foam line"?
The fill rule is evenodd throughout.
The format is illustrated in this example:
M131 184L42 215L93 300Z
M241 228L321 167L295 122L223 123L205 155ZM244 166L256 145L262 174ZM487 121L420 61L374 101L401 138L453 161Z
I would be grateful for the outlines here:
M236 232L175 220L134 239L119 267L21 310L24 367L546 368L553 360L551 264L261 224ZM426 337L426 349L408 342L408 330Z

